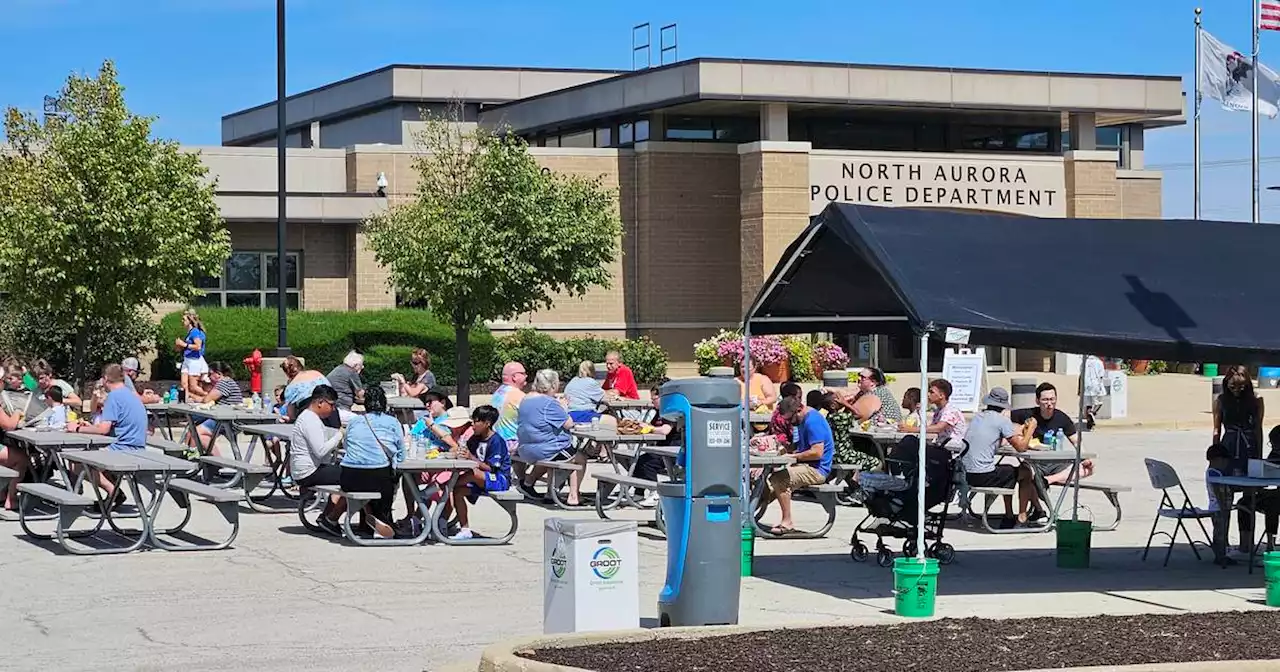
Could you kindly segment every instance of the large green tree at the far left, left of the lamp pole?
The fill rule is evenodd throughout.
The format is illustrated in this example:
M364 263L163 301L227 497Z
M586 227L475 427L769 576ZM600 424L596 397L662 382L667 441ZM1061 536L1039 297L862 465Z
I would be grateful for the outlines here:
M156 302L187 302L230 255L197 154L151 137L111 61L72 74L44 118L5 111L0 289L15 310L64 316L83 380L88 330Z

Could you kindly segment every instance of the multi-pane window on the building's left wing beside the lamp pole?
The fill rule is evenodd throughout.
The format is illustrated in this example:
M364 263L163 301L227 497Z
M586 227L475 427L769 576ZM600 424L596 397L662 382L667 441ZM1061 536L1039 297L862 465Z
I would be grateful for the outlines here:
M220 278L200 278L196 287L205 291L197 306L274 308L279 305L276 278L279 266L275 252L236 251L227 260ZM291 308L301 305L298 252L285 252L284 289Z

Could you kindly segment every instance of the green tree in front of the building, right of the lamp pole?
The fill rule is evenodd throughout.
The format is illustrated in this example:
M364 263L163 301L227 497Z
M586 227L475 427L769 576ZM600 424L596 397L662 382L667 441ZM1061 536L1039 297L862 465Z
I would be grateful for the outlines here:
M458 403L468 403L468 330L608 287L617 196L599 178L544 172L518 136L468 128L457 106L416 141L417 191L364 223L399 294L453 325Z

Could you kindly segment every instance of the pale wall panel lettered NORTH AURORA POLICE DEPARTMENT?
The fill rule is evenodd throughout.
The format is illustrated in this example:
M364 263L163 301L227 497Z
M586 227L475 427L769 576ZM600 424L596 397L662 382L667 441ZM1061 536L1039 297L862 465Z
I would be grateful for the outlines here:
M998 159L909 152L814 152L809 214L832 201L1065 216L1059 157Z

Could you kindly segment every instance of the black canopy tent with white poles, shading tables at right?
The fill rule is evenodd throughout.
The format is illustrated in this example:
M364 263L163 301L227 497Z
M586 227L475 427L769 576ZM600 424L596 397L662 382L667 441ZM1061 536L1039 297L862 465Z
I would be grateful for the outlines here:
M831 204L783 252L746 312L744 358L753 334L916 334L924 390L929 334L960 328L986 346L1275 361L1280 315L1270 300L1280 264L1256 261L1271 250L1280 250L1272 225ZM749 362L742 370L750 375ZM1076 467L1079 460L1078 443ZM1073 518L1078 502L1079 486Z

